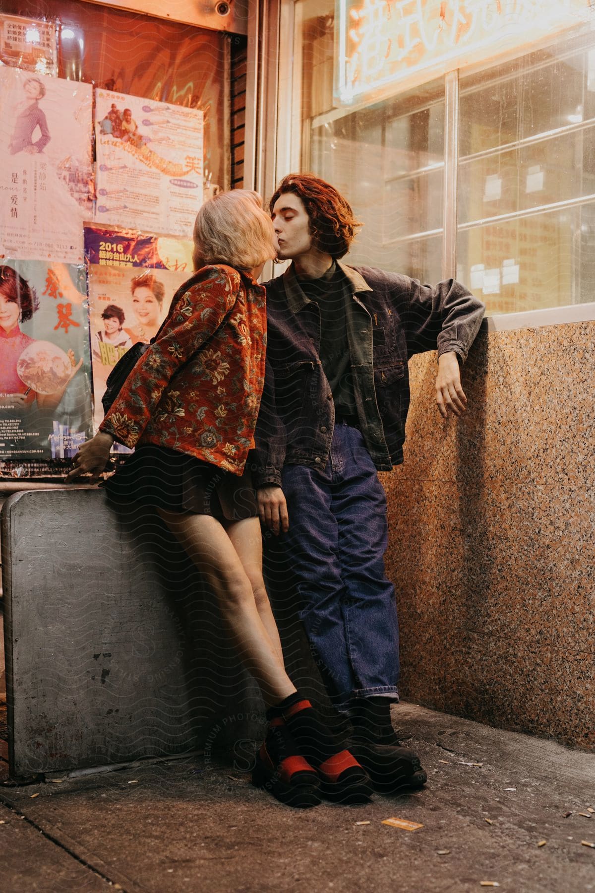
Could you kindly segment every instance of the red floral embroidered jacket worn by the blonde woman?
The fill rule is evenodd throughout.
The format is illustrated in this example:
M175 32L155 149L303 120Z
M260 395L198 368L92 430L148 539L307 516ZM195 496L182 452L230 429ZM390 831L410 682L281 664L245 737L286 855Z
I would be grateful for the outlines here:
M100 425L241 474L264 382L265 290L232 267L194 273Z

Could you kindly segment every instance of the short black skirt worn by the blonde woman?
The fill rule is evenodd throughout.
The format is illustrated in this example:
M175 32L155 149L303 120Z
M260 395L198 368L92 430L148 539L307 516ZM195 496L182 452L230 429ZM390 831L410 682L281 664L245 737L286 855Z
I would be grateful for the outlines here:
M103 482L118 504L136 503L168 512L209 514L219 521L258 515L251 459L242 476L202 462L193 455L147 444L137 447Z

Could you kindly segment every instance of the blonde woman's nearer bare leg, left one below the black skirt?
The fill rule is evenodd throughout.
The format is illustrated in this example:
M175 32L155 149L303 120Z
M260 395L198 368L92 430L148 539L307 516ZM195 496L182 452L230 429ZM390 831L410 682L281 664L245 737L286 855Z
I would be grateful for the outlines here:
M292 695L295 686L285 672L278 634L272 641L260 619L250 579L226 530L210 515L158 513L211 586L231 640L265 703L277 704Z

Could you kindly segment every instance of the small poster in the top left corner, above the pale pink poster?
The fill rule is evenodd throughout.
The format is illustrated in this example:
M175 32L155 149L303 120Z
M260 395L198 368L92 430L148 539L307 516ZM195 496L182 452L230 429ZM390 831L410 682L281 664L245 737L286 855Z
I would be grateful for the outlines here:
M54 22L0 13L0 64L55 78L58 63Z

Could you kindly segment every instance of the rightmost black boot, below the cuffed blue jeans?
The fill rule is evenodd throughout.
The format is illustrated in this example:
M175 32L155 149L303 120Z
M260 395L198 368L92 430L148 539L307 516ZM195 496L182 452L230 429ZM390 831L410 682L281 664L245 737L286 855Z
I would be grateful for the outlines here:
M408 747L401 747L393 729L388 698L354 698L350 715L353 737L349 747L368 772L375 790L393 794L426 784L419 757Z

